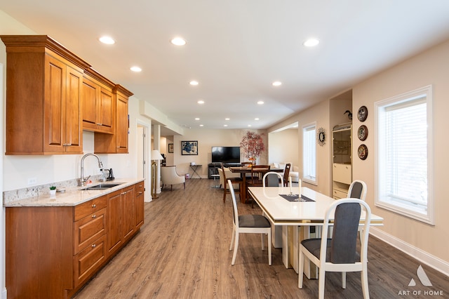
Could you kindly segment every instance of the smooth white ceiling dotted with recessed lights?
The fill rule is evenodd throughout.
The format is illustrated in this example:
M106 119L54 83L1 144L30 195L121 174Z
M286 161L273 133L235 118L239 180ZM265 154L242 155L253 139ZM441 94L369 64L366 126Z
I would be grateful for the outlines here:
M186 128L267 128L449 39L447 0L0 0L0 10ZM100 44L105 34L116 44ZM309 37L319 46L304 47Z

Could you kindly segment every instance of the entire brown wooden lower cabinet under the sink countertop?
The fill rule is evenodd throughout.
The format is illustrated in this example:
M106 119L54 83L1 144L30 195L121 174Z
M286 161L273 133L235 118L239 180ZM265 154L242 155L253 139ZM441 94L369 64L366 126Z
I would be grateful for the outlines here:
M69 298L143 224L144 185L78 206L6 208L8 298Z

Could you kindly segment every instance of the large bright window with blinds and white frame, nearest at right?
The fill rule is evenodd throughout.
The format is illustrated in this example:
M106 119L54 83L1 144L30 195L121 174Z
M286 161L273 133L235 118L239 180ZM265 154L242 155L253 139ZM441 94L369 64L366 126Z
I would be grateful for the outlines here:
M375 204L434 224L431 86L375 103Z

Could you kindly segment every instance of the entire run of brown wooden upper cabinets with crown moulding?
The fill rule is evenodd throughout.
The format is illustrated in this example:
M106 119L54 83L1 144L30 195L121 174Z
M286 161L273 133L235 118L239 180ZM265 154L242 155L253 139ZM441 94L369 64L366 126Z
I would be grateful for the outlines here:
M1 35L6 45L6 154L128 153L128 97L46 35ZM98 150L97 150L98 149Z

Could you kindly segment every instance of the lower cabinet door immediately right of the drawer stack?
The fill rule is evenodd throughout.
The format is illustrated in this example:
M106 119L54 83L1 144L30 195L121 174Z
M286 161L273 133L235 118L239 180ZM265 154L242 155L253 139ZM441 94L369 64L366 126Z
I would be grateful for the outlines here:
M114 253L123 243L121 238L121 196L122 190L109 194L107 203L107 251Z

